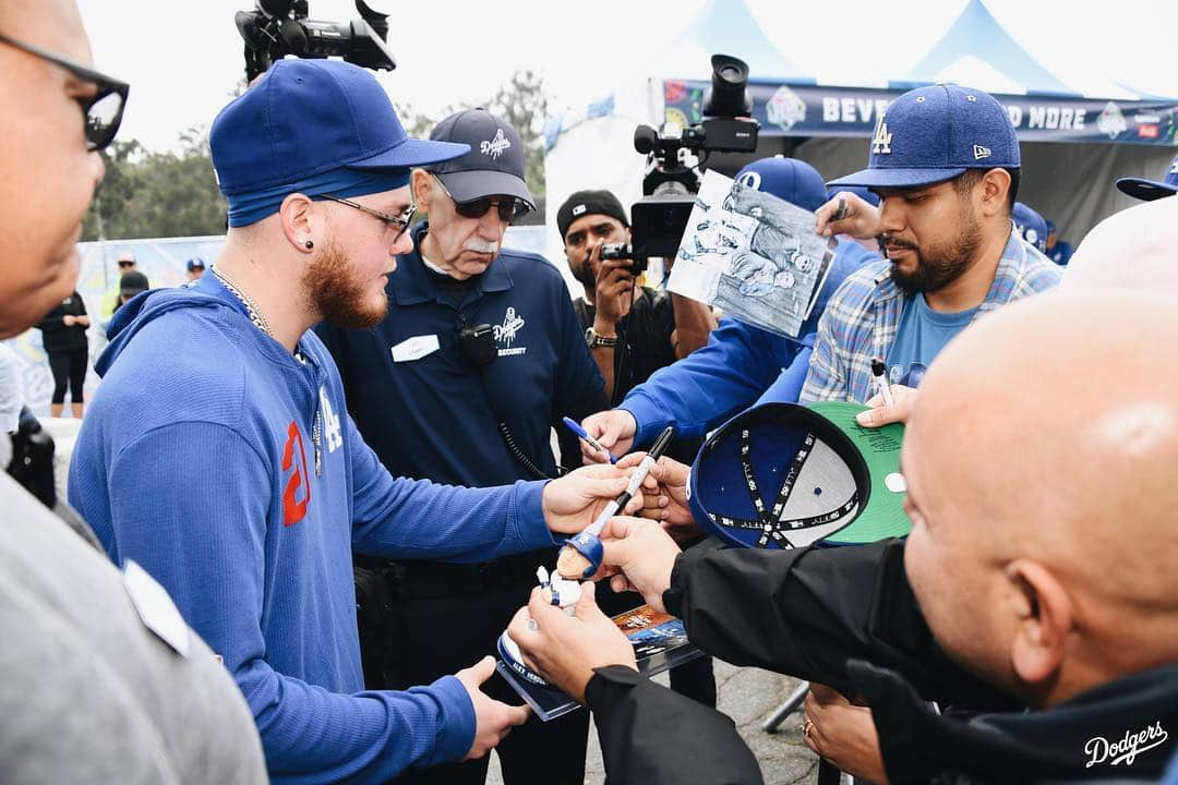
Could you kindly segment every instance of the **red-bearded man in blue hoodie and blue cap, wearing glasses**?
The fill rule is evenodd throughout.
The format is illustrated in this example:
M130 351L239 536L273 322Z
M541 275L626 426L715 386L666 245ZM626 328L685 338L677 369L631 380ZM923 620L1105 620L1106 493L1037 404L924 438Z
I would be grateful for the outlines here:
M274 781L384 781L478 757L527 718L483 694L485 658L365 692L352 548L478 561L580 531L622 478L468 490L393 479L310 332L371 326L409 250L409 167L465 145L408 139L369 72L283 60L213 121L225 248L194 284L119 311L70 475L117 563L176 598L233 674ZM454 619L462 624L463 619Z

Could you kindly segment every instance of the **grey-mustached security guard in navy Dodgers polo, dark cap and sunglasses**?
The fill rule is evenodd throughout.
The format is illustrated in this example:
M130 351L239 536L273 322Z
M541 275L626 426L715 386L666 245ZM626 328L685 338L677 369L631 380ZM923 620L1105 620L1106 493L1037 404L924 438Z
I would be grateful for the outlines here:
M395 475L490 486L555 477L550 446L561 417L603 406L603 380L560 271L544 258L503 248L508 226L531 209L524 151L510 124L468 109L430 139L468 145L458 158L412 174L417 208L429 215L410 235L375 330L322 327L364 440ZM482 325L483 331L474 330ZM562 445L580 465L576 438ZM389 641L365 660L368 686L428 684L494 651L535 584L545 551L472 565L368 563L389 577L392 610L362 637ZM461 625L455 619L463 619ZM515 694L498 677L487 691ZM498 747L504 779L581 783L587 719L577 712L532 721ZM412 783L482 783L487 761L409 774ZM523 779L521 779L521 777Z

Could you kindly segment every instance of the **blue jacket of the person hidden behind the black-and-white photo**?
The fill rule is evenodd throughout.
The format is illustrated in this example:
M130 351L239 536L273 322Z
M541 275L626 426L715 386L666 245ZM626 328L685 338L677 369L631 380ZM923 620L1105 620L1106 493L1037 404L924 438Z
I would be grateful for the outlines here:
M847 275L879 258L839 238L830 272L796 340L721 319L706 346L660 368L626 395L618 408L638 425L634 444L648 444L668 425L679 437L699 438L755 403L796 401L827 301Z

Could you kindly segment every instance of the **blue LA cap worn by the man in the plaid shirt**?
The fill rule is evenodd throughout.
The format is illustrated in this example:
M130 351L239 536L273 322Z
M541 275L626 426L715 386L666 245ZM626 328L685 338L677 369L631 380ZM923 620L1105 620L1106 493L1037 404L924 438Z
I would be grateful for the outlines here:
M1021 168L1019 140L992 95L959 85L911 89L880 115L867 168L830 186L916 188L966 169Z

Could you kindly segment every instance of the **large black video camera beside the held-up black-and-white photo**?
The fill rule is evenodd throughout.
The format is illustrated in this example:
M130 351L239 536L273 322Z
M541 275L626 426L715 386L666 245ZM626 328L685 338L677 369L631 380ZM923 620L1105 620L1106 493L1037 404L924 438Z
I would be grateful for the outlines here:
M700 189L700 164L715 152L756 152L760 126L752 113L748 65L727 54L712 55L712 87L703 94L702 122L634 129L634 149L647 157L646 195L630 207L634 245L614 257L602 248L601 258L634 259L635 272L640 260L646 270L650 257L674 258Z

